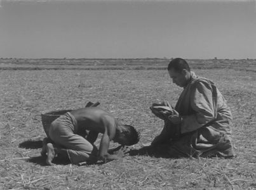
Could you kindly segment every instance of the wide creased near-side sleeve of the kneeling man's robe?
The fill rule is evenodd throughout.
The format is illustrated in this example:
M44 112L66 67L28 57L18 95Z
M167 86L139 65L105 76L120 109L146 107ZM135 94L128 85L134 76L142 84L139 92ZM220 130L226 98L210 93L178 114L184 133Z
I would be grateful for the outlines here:
M212 85L205 80L199 80L191 88L191 115L182 115L180 132L191 132L207 124L215 117L215 106L212 96Z

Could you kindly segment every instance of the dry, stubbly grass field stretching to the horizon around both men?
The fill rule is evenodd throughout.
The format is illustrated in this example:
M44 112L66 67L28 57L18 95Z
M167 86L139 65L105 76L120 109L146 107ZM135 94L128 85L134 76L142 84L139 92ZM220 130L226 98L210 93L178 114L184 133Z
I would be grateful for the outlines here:
M235 158L127 155L105 164L56 160L58 165L46 166L40 155L44 111L99 101L140 130L136 148L163 127L149 106L162 100L175 105L182 91L163 69L168 60L85 61L0 60L0 189L256 189L256 60L188 60L231 106Z

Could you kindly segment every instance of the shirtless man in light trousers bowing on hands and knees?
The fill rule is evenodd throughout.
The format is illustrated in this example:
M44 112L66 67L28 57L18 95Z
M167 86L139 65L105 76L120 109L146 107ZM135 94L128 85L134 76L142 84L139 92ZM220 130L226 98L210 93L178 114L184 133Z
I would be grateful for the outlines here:
M88 130L88 135L86 135ZM98 134L103 134L100 146L97 149L95 143ZM100 108L81 108L65 113L51 123L49 129L50 139L56 146L46 145L48 165L55 156L68 156L73 164L81 162L96 163L98 160L109 162L124 155L121 149L117 155L108 153L110 141L123 146L138 143L137 130L130 125L123 125L111 113Z

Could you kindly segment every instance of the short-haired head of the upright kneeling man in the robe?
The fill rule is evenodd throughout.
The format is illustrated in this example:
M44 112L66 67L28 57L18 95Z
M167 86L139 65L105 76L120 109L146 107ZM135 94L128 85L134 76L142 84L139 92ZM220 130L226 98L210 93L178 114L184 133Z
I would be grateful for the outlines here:
M180 87L185 87L191 79L191 72L187 61L175 58L168 65L168 73L172 82Z

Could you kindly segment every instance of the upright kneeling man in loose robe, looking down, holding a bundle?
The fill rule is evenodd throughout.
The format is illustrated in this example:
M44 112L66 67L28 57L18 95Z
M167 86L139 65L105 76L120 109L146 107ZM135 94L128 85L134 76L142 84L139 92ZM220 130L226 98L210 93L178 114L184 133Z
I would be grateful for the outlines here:
M167 109L169 115L166 119L162 117L165 126L152 141L151 148L171 157L234 156L230 137L231 110L215 84L197 77L181 58L170 61L168 73L183 91L175 109Z

